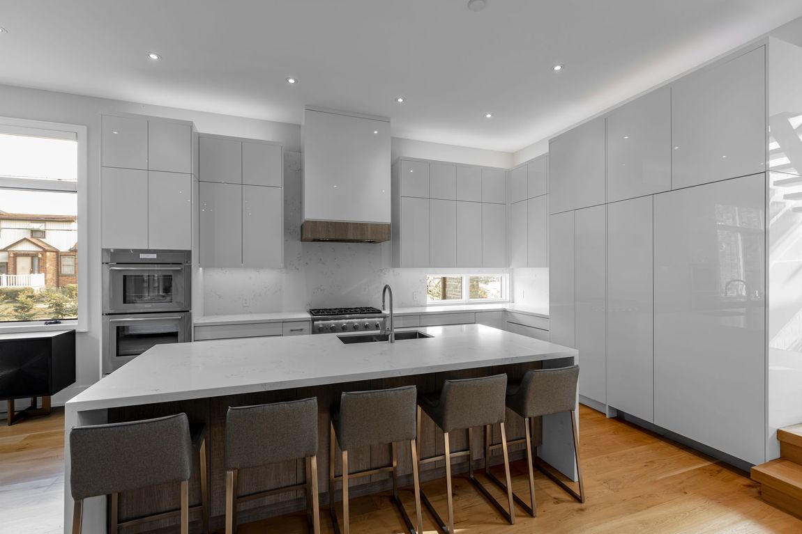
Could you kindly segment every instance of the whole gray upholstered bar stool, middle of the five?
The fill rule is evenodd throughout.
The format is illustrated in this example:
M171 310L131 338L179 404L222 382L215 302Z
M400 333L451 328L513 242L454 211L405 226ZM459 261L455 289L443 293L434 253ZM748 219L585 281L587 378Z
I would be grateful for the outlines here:
M339 534L340 524L334 510L334 483L342 481L342 521L343 530L350 532L348 514L348 481L357 476L392 472L392 500L398 507L404 524L411 534L423 532L423 517L420 513L420 480L418 478L418 456L415 444L415 386L395 387L376 391L351 391L342 393L339 407L331 411L331 443L329 458L329 510L334 524L334 532ZM407 441L412 456L412 484L415 492L415 516L417 525L407 515L399 499L398 444ZM342 450L342 476L334 476L334 460L337 444ZM386 468L368 469L361 472L348 472L348 451L370 445L390 444L392 465Z

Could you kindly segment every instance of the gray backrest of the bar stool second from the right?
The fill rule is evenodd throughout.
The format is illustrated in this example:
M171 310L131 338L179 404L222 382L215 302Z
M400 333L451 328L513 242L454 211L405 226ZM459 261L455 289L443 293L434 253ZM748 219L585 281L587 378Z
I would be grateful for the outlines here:
M507 375L446 380L438 410L443 432L504 422Z

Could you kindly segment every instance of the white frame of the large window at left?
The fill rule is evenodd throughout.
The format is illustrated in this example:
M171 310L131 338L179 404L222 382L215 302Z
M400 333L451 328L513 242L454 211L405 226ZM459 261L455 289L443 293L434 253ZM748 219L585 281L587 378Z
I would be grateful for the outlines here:
M27 178L0 177L2 189L23 189L30 191L75 192L78 195L78 251L75 253L76 265L89 265L87 261L89 228L87 215L89 205L87 199L87 126L68 124L65 122L38 121L27 118L0 117L0 134L27 135L51 139L75 139L77 143L77 175L75 182L58 180L40 180ZM59 259L59 274L61 260ZM89 273L86 268L78 271L78 319L61 319L59 324L45 324L45 320L35 321L0 321L0 333L26 331L57 331L65 328L75 331L88 331L89 324Z

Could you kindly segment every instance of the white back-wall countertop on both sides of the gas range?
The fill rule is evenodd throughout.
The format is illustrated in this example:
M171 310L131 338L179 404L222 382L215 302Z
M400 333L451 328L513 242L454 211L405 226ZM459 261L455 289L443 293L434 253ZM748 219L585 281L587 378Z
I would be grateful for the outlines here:
M543 307L521 306L516 303L459 304L442 306L397 307L395 315L428 315L440 313L478 313L480 311L515 311L549 319L549 310ZM195 326L217 326L221 324L282 323L284 321L308 321L308 311L276 311L273 313L241 313L234 315L205 315L193 320Z

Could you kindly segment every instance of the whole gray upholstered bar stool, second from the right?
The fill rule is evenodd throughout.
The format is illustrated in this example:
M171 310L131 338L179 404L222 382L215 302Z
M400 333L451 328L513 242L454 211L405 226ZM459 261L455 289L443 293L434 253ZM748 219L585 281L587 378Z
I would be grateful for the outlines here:
M451 459L456 456L468 456L468 479L476 486L476 489L492 504L504 519L510 524L515 523L515 510L512 508L512 486L509 484L509 457L506 447L506 431L504 429L504 394L507 388L507 375L492 375L481 378L446 380L443 390L440 391L439 399L429 395L423 395L418 399L418 455L420 456L420 427L421 410L443 431L444 455L422 458L421 464L427 464L439 460L445 460L446 464L446 493L448 496L448 524L440 518L432 506L427 496L421 492L423 504L429 509L431 515L437 520L438 528L443 532L453 534L454 532L454 499L452 496L452 472ZM486 436L489 434L491 425L498 424L501 429L501 439L504 444L504 470L507 476L507 486L509 491L508 509L493 498L484 486L473 476L473 428L484 427ZM451 452L449 435L455 430L468 429L468 450L461 452ZM488 437L485 438L488 440ZM488 469L488 456L485 454L485 468Z

